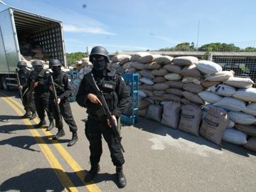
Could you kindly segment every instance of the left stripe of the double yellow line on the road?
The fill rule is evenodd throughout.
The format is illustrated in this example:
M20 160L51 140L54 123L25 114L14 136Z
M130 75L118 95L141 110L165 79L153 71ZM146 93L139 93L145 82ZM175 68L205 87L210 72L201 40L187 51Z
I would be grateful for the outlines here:
M22 112L18 110L16 106L14 106L13 103L9 101L9 99L2 97L2 100L4 100L10 107L12 107L18 115L22 115ZM50 166L53 167L53 170L55 171L55 174L58 176L60 182L62 185L65 187L66 190L68 191L78 191L77 188L75 188L74 184L72 181L70 181L70 178L68 177L68 174L65 173L65 170L63 167L60 165L58 159L54 156L53 152L50 151L50 148L47 146L46 142L43 141L41 138L41 135L38 133L36 129L33 129L33 125L31 122L28 121L28 119L23 119L23 122L28 124L29 131L35 137L35 139L38 142L38 145L40 146L41 150L43 151L43 154L46 156L46 159L48 160Z

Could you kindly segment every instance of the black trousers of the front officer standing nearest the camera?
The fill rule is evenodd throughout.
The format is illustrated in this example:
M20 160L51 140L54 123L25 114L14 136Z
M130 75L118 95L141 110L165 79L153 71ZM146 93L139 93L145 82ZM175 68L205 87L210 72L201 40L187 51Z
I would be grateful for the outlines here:
M102 155L102 135L110 149L110 156L114 166L124 164L124 155L120 143L114 139L112 128L107 125L107 121L98 122L94 119L87 119L85 123L85 135L90 142L90 163L96 165L100 162Z

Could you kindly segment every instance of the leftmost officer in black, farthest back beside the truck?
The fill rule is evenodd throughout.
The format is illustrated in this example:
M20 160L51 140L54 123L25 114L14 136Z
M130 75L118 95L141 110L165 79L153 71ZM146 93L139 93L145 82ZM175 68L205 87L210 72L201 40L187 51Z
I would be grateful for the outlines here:
M21 82L21 86L18 87L22 92L22 104L24 106L24 110L26 113L22 116L22 118L35 119L36 118L36 107L35 102L33 100L33 95L29 94L28 87L28 79L31 75L31 71L27 69L27 65L24 61L18 61L17 64L18 70L18 78Z

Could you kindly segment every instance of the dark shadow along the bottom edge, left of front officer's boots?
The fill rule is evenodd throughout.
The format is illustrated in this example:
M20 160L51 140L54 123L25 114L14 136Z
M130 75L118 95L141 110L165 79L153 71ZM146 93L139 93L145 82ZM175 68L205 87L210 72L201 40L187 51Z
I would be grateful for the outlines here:
M33 171L28 171L24 174L14 176L13 178L9 178L8 180L4 181L0 185L0 191L64 191L65 188L67 191L70 191L70 187L73 186L68 186L68 183L64 183L65 186L63 186L58 180L56 174L62 176L64 173L63 170L60 169L34 169ZM75 187L91 184L84 184L78 178L78 175L84 175L85 171L72 173L65 172L65 174L68 175ZM115 174L99 173L97 176L95 176L94 183L100 183L101 181L113 181L116 183L115 180Z

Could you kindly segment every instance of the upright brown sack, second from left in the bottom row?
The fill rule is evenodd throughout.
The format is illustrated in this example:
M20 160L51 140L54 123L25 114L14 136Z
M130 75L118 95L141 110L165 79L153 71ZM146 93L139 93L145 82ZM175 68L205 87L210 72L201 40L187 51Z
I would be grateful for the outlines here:
M177 129L180 112L180 102L166 102L166 104L164 105L164 112L162 115L161 124Z

